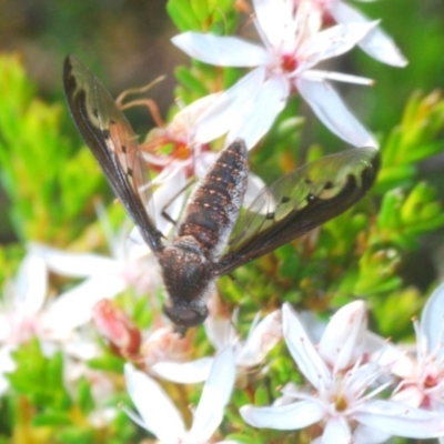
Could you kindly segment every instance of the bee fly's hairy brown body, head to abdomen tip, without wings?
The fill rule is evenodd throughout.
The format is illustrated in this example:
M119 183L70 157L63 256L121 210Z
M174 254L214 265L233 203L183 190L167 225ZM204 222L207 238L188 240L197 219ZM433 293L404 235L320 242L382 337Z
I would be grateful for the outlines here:
M213 265L239 216L249 174L243 142L219 154L186 206L178 235L159 254L170 295L167 315L178 325L200 324L208 315L206 296L214 286Z

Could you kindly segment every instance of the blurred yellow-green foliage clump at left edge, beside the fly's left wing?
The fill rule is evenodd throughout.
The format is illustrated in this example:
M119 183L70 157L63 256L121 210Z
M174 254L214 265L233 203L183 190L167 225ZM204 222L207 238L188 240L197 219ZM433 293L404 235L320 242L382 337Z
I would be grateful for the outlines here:
M20 59L1 56L0 91L8 93L0 104L0 180L16 234L64 245L91 221L102 178L92 157L61 135L64 105L49 105L33 90Z

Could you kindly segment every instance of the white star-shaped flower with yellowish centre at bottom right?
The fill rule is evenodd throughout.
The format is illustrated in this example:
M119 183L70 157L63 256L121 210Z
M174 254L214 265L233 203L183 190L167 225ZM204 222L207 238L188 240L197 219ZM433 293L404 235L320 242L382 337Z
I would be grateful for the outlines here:
M364 363L356 351L365 331L365 306L356 301L332 319L316 349L299 316L283 306L283 333L300 372L314 387L285 390L286 402L270 407L241 408L255 427L297 430L319 423L323 443L379 443L390 435L435 437L444 433L441 415L376 400L386 385L377 385L384 369ZM326 337L329 336L329 337ZM293 398L293 402L289 400Z

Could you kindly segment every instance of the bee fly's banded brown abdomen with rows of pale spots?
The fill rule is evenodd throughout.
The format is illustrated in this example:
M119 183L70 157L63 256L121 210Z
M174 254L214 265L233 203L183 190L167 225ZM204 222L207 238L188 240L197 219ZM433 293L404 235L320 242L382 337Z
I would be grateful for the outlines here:
M243 141L222 150L191 196L178 235L191 235L210 256L226 244L246 189L249 164Z

